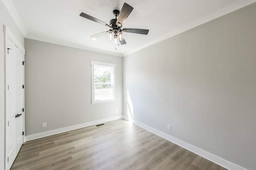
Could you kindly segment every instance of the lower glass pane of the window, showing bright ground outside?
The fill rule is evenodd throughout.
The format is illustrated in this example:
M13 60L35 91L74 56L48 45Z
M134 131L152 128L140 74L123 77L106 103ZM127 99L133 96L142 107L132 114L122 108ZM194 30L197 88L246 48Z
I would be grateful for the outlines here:
M95 85L94 93L95 93L95 100L112 100L113 99L111 84Z

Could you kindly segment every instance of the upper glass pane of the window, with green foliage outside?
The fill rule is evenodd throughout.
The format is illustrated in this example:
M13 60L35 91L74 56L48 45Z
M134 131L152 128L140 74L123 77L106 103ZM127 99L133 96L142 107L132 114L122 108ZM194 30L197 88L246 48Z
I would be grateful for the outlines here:
M110 83L111 82L111 68L110 67L94 67L94 82L95 83Z

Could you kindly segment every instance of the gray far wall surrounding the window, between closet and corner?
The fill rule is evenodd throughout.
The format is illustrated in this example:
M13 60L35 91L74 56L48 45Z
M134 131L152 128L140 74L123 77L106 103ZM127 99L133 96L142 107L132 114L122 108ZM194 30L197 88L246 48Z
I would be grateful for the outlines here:
M122 57L26 38L25 49L26 136L122 115ZM91 61L116 64L115 102L91 104Z

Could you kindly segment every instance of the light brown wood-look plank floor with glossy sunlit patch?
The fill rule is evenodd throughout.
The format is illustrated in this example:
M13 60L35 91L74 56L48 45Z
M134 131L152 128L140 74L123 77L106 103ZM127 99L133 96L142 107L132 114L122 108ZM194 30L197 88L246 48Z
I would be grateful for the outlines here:
M124 119L22 145L11 170L225 170Z

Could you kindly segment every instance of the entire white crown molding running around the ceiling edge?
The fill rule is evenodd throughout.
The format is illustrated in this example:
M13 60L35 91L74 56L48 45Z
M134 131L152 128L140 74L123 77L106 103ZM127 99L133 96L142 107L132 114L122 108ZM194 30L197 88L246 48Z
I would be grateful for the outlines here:
M154 41L147 43L146 45L143 45L141 47L138 47L132 51L129 51L128 53L116 53L116 52L111 52L111 51L105 51L102 49L96 49L96 48L92 48L92 47L84 47L82 45L75 45L75 44L71 44L71 43L66 43L66 42L62 42L60 40L48 40L46 38L42 38L39 36L33 36L33 35L29 35L28 32L26 31L26 28L22 22L22 20L20 19L20 16L14 6L14 4L12 3L12 0L2 0L2 2L4 3L4 5L6 6L7 10L9 11L10 15L12 16L12 18L14 19L14 22L17 24L18 28L20 29L20 32L22 32L23 36L26 38L30 38L33 40L38 40L38 41L43 41L43 42L49 42L49 43L55 43L55 44L59 44L59 45L65 45L68 47L74 47L74 48L79 48L79 49L85 49L85 50L89 50L89 51L95 51L95 52L99 52L99 53L105 53L105 54L110 54L110 55L116 55L116 56L120 56L120 57L124 57L126 55L130 55L132 53L135 53L136 51L139 51L141 49L144 49L146 47L149 47L151 45L154 45L155 43L161 42L163 40L166 40L168 38L171 38L173 36L176 36L182 32L185 32L187 30L190 30L196 26L199 26L201 24L204 24L206 22L209 22L211 20L214 20L220 16L224 16L230 12L233 12L235 10L238 10L240 8L243 8L245 6L248 6L250 4L253 4L254 2L256 2L256 0L239 0L237 2L234 2L220 10L217 10L211 14L208 14L194 22L191 22L185 26L183 26L182 28L178 28L177 30L170 32L164 36L161 36L160 38L155 39Z

